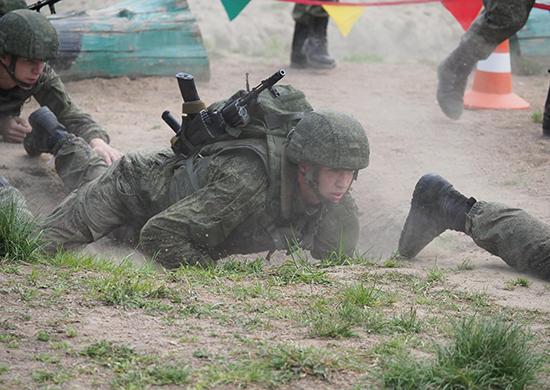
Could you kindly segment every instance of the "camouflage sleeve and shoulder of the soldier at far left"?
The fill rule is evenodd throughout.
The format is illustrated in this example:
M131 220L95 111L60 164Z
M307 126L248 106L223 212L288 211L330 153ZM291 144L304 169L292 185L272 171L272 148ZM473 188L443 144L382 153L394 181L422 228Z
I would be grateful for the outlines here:
M69 133L78 135L86 142L101 138L109 143L107 130L73 102L59 75L47 64L30 90L15 87L0 93L0 118L20 116L23 104L31 97L41 106L48 106Z

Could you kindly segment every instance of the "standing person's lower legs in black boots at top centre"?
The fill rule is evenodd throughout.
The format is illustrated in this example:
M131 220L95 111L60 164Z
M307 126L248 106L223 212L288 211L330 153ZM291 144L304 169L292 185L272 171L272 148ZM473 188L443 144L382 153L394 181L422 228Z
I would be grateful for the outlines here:
M338 1L338 0L334 0ZM320 5L296 4L292 11L295 21L290 66L331 69L336 60L328 54L327 27L329 15Z

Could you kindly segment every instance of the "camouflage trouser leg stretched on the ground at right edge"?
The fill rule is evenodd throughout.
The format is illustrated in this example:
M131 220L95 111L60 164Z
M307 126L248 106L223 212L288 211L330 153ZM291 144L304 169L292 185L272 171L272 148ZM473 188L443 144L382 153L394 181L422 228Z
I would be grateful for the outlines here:
M550 279L550 225L526 211L477 202L467 215L466 233L510 267Z

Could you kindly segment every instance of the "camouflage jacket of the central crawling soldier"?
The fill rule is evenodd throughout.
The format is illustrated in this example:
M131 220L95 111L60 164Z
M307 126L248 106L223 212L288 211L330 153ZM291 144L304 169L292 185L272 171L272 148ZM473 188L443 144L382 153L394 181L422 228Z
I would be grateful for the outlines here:
M206 265L229 255L279 249L269 231L272 227L284 243L299 243L317 259L340 249L351 255L357 245L359 220L350 194L330 209L321 203L305 204L296 167L287 169L283 178L282 196L289 200L290 212L287 217L279 214L269 224L265 218L270 183L258 153L229 150L199 158L194 169L200 189L185 193L187 168L178 169L176 164L174 178L183 178L180 199L173 199L171 206L150 218L141 230L142 248L157 254L166 268L179 267L182 261ZM152 180L150 186L166 187L154 183L163 181L160 176Z

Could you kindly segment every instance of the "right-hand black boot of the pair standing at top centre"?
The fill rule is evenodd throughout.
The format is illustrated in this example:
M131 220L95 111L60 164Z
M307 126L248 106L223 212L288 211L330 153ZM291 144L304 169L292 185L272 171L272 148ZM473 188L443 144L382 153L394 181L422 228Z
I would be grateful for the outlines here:
M309 35L304 45L304 52L309 66L317 69L331 69L336 60L328 54L327 42L328 17L309 18Z

